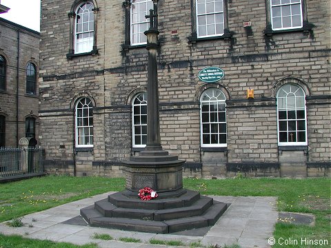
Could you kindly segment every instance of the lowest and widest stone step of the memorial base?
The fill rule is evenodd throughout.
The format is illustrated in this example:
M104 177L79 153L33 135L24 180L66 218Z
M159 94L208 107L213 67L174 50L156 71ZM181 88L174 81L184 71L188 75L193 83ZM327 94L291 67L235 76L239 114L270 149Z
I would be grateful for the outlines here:
M165 221L138 220L132 218L115 218L100 216L95 209L81 209L82 216L92 227L107 227L113 229L123 229L128 231L142 231L157 234L167 234L186 229L208 227L216 223L217 219L224 213L227 205L215 201L204 214L187 218L178 218ZM99 214L98 214L99 213Z

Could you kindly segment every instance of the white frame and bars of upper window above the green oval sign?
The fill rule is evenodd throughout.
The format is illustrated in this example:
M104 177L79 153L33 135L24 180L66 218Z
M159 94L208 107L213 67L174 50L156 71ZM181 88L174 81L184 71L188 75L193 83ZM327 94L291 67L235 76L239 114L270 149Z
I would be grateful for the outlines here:
M224 29L225 29L225 3L224 1L225 0L195 0L195 4L196 4L196 22L197 22L197 37L198 38L204 38L204 37L219 37L219 36L222 36L224 34ZM207 12L207 5L208 4L211 4L213 3L214 4L214 11L213 12ZM215 3L221 3L222 4L222 10L215 10ZM201 5L205 5L205 13L201 13L199 14L199 6ZM216 14L223 14L223 22L217 22L216 21ZM214 15L214 22L213 23L210 23L212 25L215 25L215 28L214 28L214 31L215 31L215 34L210 34L208 35L208 21L207 21L207 17L208 16L211 16L211 15ZM199 32L199 26L202 26L199 24L199 17L205 17L205 28L206 28L206 31L205 31L205 35L202 35L200 34ZM220 32L220 33L217 33L217 29L216 29L216 24L221 24L223 25L223 32Z

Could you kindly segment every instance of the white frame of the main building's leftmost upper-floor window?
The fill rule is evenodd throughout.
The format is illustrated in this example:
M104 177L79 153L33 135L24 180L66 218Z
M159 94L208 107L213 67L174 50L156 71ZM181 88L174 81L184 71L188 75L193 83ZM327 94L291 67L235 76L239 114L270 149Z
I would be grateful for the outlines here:
M91 6L90 6L90 8L87 9L86 6L88 4L90 4ZM82 8L82 6L85 6L85 9L84 10L82 9L83 11L88 10L88 13L87 13L88 21L84 22L84 23L88 23L88 30L83 30L83 17L81 17L81 19L82 19L82 23L81 23L82 28L81 29L82 30L79 32L78 31L79 23L77 23L78 16L79 16L78 12ZM80 53L84 53L84 52L91 52L93 50L94 35L95 35L94 34L94 11L93 10L94 10L93 3L90 2L90 1L87 1L85 3L81 3L75 11L75 14L76 14L75 19L74 19L74 53L75 54L80 54ZM91 19L90 19L90 13L92 13L92 18ZM83 13L83 14L85 14L85 13ZM92 29L91 29L91 25L92 25ZM88 34L89 37L78 39L78 36L80 34L81 35ZM91 34L92 34L92 36L91 36ZM85 47L79 49L79 45L81 45L83 43L85 43Z

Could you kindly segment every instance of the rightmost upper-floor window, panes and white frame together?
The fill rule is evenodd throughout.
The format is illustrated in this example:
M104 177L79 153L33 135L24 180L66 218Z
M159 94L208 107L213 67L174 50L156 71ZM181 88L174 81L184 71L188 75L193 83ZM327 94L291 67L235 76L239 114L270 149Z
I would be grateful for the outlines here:
M302 0L270 0L272 30L303 27Z

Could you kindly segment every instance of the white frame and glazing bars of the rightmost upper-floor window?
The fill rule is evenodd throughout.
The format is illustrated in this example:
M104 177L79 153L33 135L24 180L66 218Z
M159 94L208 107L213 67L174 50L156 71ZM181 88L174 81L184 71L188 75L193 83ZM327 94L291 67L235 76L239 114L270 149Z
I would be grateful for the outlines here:
M295 28L302 28L303 27L303 0L268 0L270 1L270 22L272 25L272 30L292 30ZM274 3L277 1L277 3ZM279 1L279 3L278 3ZM286 1L286 2L285 2ZM287 3L289 1L289 3ZM298 14L292 14L292 6L300 6L300 20L301 20L301 25L296 25L293 26L292 23L292 16L298 15ZM288 16L283 16L283 7L285 6L290 6L290 15ZM281 18L281 28L274 28L274 15L272 12L272 8L280 8L280 18ZM285 27L283 28L283 18L284 17L291 17L291 26L290 27Z

